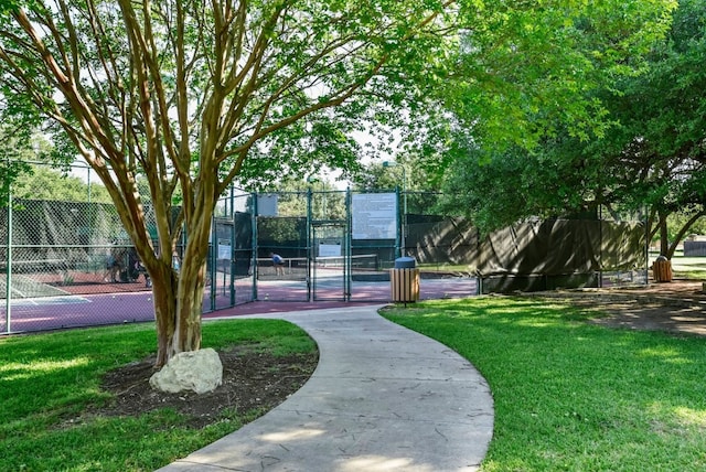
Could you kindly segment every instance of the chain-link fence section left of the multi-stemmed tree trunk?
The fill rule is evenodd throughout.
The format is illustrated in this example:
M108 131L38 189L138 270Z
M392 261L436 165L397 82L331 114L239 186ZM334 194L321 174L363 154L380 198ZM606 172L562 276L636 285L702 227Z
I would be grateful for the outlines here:
M13 200L0 210L0 239L3 332L153 319L146 273L113 205Z

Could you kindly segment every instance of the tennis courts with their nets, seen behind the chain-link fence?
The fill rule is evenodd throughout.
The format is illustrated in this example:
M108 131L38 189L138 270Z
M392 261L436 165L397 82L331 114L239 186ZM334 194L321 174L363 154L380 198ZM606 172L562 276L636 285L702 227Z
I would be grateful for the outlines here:
M253 297L253 278L236 279L234 293L221 283L216 289L208 288L204 293L204 315L237 315L253 312L253 303L244 301L257 300L259 311L281 311L284 309L328 308L332 303L385 303L391 301L391 286L384 280L387 270L373 270L363 267L363 258L359 258L359 268L352 277L344 277L344 268L333 258L319 260L310 269L313 277L307 276L303 264L292 260L284 276L277 278L271 267L263 267L257 280L257 293ZM259 261L258 261L259 262ZM366 277L355 277L355 276ZM224 277L218 273L216 277ZM375 276L375 277L372 277ZM4 281L0 281L2 293L7 293ZM422 278L420 299L459 298L478 292L478 281L468 278ZM0 330L2 333L35 332L66 328L93 326L153 321L152 292L142 281L130 283L98 283L93 279L84 286L74 280L71 286L56 287L39 282L25 276L12 277L11 303L4 297L0 305ZM311 296L315 293L315 298ZM235 307L233 300L235 299ZM269 303L269 304L268 304ZM211 307L216 307L212 310ZM226 309L220 311L220 309ZM8 310L11 312L8 322Z

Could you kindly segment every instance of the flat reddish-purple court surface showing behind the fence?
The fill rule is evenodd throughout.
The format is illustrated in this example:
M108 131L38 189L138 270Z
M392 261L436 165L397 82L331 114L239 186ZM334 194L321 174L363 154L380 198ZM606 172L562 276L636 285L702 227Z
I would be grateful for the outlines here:
M474 296L477 287L474 278L421 279L420 299ZM236 283L234 293L226 292L223 287L213 293L206 290L203 317L210 319L389 302L388 281L353 282L346 288L335 278L320 280L315 287L301 280L268 280L258 281L255 292L249 280L240 286ZM152 292L143 280L130 283L74 281L71 286L57 287L51 296L17 298L12 299L10 307L4 301L0 305L0 333L3 334L153 320Z

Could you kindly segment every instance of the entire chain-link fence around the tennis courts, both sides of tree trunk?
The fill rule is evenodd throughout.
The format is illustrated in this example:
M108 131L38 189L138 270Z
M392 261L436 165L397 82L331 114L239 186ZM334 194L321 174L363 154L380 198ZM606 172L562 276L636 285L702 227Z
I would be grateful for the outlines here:
M149 280L115 207L90 201L99 189L88 185L83 202L14 199L0 210L1 332L153 320ZM439 196L232 189L213 218L204 312L254 300L388 302L400 256L420 269L421 299L646 283L639 222L533 222L481 237L435 212Z

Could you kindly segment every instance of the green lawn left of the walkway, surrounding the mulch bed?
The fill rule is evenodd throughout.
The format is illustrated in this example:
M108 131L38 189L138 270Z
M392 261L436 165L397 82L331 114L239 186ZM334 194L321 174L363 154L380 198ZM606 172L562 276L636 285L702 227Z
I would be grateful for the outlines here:
M315 350L302 330L275 320L206 322L203 337L213 348L256 344L275 355ZM233 409L200 430L169 409L139 418L81 415L110 400L99 389L101 374L156 346L151 324L0 339L0 470L152 471L261 414Z

